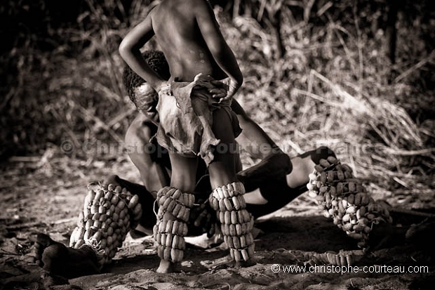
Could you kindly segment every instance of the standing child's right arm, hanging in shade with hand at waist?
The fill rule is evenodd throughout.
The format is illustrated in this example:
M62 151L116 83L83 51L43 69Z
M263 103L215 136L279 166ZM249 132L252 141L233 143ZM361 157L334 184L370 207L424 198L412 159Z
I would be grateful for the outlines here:
M230 79L229 84L227 83L229 87L228 93L223 100L232 98L243 83L243 75L234 57L234 53L220 32L211 6L206 1L195 1L194 13L208 50L213 55L217 65L220 66Z

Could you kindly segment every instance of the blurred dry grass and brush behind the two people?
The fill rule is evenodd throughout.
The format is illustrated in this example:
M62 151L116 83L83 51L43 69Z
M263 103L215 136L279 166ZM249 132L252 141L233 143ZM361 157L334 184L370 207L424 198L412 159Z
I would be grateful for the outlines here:
M2 159L47 150L72 161L118 158L83 148L121 144L135 117L117 47L156 1L6 2ZM394 63L394 1L212 2L245 77L237 98L284 150L333 147L374 189L435 187L434 1L400 2ZM73 150L60 150L65 141Z

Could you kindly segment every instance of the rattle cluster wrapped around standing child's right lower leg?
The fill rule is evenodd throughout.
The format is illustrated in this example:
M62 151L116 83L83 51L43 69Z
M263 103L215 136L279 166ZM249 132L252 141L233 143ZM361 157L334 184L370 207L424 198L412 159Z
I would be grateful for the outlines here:
M254 256L255 248L251 234L254 218L245 209L244 193L242 183L229 183L213 190L208 199L220 221L220 230L229 247L229 254L236 262L248 261Z

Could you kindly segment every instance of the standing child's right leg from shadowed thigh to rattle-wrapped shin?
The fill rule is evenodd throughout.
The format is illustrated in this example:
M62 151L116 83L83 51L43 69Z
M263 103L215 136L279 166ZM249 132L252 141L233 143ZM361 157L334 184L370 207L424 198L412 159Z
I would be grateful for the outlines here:
M213 193L210 202L216 210L220 229L229 246L229 253L237 264L253 257L254 243L250 231L253 216L246 211L243 197L245 188L236 181L235 140L229 114L223 110L213 112L213 133L220 139L222 147L217 147L214 161L208 166Z

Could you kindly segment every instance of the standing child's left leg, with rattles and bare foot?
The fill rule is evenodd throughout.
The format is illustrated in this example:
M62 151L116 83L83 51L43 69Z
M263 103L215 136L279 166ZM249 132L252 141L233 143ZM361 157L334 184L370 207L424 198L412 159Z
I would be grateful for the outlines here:
M157 194L159 212L154 226L154 239L161 258L157 272L173 272L173 265L182 260L187 235L187 221L194 203L198 159L170 153L172 175L170 186L163 187Z

